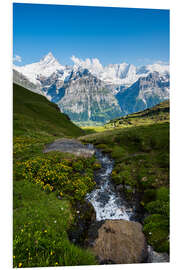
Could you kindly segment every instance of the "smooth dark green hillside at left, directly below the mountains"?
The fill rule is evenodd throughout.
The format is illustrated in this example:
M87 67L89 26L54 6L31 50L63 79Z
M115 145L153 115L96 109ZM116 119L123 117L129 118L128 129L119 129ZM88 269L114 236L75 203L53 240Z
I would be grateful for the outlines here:
M14 135L38 132L52 136L77 137L83 131L60 113L56 104L45 97L14 84Z

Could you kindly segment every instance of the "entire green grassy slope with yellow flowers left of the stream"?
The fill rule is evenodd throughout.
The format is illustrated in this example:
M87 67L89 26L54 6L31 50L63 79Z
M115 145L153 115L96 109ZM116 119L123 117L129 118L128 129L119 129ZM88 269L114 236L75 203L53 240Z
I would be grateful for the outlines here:
M14 85L13 101L13 266L96 264L67 234L77 216L72 204L95 184L95 160L42 152L46 143L84 132L43 96Z

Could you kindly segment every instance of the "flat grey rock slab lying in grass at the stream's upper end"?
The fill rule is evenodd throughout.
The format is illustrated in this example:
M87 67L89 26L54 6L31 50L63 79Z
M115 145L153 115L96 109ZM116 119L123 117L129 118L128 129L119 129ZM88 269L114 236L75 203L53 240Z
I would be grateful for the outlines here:
M75 139L58 139L51 144L46 145L44 153L50 151L60 151L65 153L72 153L76 156L91 157L94 155L95 150L88 145L82 144L80 141Z

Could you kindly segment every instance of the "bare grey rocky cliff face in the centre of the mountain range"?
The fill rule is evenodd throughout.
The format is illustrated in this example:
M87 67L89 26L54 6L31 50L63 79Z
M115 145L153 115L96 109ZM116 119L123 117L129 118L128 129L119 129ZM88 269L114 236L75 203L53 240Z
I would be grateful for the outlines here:
M112 91L87 69L72 71L59 92L57 104L73 121L106 122L121 113Z

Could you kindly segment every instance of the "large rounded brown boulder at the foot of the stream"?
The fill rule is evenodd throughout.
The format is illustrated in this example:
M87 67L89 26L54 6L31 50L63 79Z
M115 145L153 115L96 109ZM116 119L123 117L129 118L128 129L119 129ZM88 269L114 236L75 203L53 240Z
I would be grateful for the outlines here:
M92 247L101 264L141 263L147 260L147 244L138 222L106 220Z

